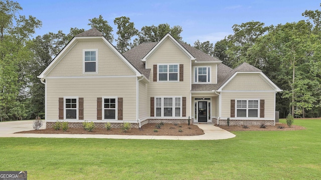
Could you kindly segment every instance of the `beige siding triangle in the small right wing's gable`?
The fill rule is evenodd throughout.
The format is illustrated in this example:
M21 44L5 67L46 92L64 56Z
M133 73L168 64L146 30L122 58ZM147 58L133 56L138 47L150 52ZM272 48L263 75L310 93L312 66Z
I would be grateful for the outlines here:
M223 90L274 90L259 74L237 74Z

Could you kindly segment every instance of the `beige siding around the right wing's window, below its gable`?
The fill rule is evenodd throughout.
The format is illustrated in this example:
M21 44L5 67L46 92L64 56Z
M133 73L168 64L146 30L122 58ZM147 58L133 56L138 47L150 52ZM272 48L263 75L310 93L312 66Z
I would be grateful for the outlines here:
M231 115L231 99L264 99L264 118L274 118L275 92L221 92L222 117Z

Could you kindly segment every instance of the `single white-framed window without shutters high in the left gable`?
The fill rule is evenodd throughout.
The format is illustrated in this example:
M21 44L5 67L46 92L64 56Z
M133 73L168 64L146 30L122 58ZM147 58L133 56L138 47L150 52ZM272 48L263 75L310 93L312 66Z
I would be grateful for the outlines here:
M98 49L83 49L83 72L98 72Z

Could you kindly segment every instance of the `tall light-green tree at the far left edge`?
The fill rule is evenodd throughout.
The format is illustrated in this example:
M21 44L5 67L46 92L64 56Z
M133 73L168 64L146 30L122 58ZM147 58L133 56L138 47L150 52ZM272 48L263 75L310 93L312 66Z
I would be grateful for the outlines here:
M22 9L17 2L1 0L0 8L0 120L22 119L32 54L26 44L41 21L31 15L15 16Z

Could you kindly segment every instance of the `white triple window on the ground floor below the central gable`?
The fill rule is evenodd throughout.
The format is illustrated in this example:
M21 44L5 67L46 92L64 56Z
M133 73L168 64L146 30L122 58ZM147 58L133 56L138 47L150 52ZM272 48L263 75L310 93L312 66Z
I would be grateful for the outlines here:
M155 112L157 117L181 117L182 97L155 97Z

